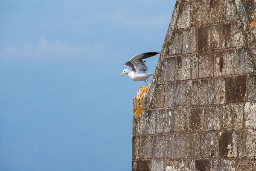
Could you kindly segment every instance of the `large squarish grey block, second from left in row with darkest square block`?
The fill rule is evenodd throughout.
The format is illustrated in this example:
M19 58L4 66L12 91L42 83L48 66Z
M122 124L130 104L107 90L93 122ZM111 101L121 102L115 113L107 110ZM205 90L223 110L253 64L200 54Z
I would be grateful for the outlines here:
M166 84L166 107L186 105L186 83L175 82Z

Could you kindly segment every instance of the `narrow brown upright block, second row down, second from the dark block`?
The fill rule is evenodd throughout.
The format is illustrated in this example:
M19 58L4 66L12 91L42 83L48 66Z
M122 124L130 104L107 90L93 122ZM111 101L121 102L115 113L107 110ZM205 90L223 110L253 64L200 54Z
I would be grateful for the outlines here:
M223 23L222 27L222 49L231 46L231 23Z

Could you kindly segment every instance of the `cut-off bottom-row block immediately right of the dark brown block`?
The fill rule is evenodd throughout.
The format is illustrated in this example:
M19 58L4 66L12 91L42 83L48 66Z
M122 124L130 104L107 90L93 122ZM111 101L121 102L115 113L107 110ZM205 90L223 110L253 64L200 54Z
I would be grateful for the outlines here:
M213 171L236 171L234 160L217 159L214 161Z

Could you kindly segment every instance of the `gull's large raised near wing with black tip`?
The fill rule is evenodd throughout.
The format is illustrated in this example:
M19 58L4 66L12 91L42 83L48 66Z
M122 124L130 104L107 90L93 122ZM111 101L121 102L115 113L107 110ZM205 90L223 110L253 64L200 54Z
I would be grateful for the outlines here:
M160 52L146 52L135 55L130 59L131 64L134 65L135 72L141 73L148 70L148 67L145 65L143 59L150 58L154 55L159 54Z

